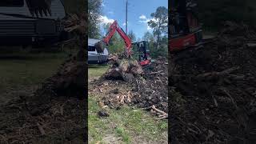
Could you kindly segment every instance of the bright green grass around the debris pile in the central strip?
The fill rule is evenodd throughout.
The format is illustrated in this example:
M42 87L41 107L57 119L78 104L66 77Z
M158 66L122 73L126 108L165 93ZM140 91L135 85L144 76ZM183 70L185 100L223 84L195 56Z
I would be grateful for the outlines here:
M99 77L107 66L90 66L89 78ZM149 112L130 106L106 108L109 117L99 118L97 95L89 95L89 143L167 143L167 121L154 120Z

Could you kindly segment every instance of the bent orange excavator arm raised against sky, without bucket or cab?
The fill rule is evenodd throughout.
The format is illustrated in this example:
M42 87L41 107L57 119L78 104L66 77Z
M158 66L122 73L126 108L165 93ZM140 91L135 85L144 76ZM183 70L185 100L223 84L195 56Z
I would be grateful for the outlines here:
M126 44L126 54L128 55L128 57L130 57L131 54L131 40L130 38L126 35L126 33L122 30L122 28L120 26L118 26L118 22L114 21L109 30L108 33L106 34L106 37L103 39L103 41L106 43L106 45L109 44L110 39L113 37L115 31L118 31L118 34L121 36L121 38L124 40L125 44Z

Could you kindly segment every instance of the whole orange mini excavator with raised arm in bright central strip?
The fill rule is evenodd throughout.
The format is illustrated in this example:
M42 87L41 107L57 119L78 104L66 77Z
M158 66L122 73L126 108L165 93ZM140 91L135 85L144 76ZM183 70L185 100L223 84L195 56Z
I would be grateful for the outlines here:
M106 43L106 45L109 44L110 38L113 37L115 31L118 31L118 34L121 36L121 38L124 40L126 44L126 55L128 58L130 58L132 54L132 48L136 48L136 52L138 52L138 62L141 66L146 66L150 63L149 58L149 50L148 50L148 44L147 42L134 42L130 40L130 38L126 35L126 33L122 30L120 26L118 26L118 22L114 21L108 30L108 33L106 34L106 37L103 39L103 42Z

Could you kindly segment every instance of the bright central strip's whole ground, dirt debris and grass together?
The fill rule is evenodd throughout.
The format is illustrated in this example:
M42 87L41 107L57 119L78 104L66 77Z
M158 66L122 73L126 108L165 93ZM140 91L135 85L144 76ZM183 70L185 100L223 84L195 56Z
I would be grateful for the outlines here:
M168 143L167 120L157 120L158 114L150 109L154 105L159 110L168 110L167 66L166 59L159 58L150 66L143 67L145 74L129 81L105 78L104 73L98 78L89 77L90 141ZM90 104L91 101L94 104ZM99 116L99 112L109 115ZM119 129L122 134L116 134ZM98 134L98 131L102 132Z

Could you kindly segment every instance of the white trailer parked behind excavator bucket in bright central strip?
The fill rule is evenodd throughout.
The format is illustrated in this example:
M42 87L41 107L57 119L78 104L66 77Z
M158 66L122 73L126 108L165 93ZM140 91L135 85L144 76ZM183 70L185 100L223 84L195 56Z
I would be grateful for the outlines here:
M88 38L88 63L89 64L102 64L107 62L107 59L109 56L108 50L104 48L103 53L98 54L98 52L95 49L94 44L99 41L101 40Z

